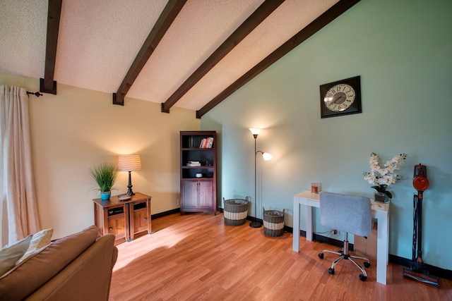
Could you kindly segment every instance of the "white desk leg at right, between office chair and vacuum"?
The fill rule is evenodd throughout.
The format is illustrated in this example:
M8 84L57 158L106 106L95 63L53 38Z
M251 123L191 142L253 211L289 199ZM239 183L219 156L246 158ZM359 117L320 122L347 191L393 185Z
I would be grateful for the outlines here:
M382 215L378 218L378 229L376 238L376 282L386 285L386 268L388 265L388 240L389 226L388 216Z

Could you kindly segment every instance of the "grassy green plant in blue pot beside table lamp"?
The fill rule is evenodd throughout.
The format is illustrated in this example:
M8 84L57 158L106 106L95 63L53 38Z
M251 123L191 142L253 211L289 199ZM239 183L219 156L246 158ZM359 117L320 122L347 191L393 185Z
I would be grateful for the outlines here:
M118 168L112 163L101 163L90 168L90 176L97 184L100 198L106 200L112 195L114 182L118 176Z

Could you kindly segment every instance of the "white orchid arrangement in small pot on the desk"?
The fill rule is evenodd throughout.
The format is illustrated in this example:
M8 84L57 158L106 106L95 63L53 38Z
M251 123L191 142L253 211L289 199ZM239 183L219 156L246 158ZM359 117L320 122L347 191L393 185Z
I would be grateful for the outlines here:
M384 193L389 198L393 195L386 190L388 186L396 183L398 180L402 180L402 176L394 173L394 171L400 170L400 166L405 163L407 154L398 154L394 156L391 161L386 161L384 168L380 167L379 156L375 153L370 154L370 172L364 171L364 180L367 180L371 186L377 192Z

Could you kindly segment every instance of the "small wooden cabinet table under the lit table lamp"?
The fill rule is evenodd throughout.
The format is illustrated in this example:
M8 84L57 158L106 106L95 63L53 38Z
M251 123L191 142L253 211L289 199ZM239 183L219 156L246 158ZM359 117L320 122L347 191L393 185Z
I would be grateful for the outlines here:
M133 236L143 231L152 233L150 223L150 200L152 197L136 192L130 199L121 201L118 196L105 201L93 199L94 222L99 235L112 233L114 244L133 240Z

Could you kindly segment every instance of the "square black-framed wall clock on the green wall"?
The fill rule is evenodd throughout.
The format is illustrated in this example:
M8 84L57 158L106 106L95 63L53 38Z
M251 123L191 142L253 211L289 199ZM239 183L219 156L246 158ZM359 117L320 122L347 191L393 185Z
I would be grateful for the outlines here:
M361 113L361 80L359 76L320 86L321 118Z

